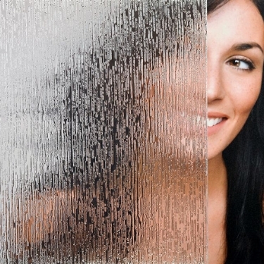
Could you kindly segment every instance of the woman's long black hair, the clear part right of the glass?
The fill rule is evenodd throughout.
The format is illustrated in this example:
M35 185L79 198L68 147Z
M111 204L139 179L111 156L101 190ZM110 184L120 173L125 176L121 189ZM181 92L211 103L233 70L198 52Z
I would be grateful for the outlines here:
M208 14L229 0L208 0ZM264 1L253 0L264 19ZM264 30L264 28L263 28ZM227 166L225 264L264 263L264 83L246 124L223 152Z

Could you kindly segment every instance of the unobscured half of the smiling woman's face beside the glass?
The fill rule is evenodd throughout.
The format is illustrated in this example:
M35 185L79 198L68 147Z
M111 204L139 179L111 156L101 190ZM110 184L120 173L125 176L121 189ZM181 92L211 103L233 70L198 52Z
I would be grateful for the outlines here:
M208 15L208 159L243 127L260 92L264 23L250 0L230 0Z

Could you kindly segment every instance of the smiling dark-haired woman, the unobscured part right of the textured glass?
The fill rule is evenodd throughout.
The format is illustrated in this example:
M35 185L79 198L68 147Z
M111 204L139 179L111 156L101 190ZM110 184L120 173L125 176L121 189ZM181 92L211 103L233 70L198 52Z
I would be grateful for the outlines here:
M263 17L264 1L208 1L212 264L264 263Z

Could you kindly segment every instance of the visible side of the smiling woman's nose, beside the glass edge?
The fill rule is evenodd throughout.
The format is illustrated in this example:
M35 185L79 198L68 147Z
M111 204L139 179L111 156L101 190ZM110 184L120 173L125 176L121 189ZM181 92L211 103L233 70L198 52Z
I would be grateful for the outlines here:
M208 60L207 72L207 101L211 103L215 100L221 100L225 97L225 84L222 71L218 65L213 65Z

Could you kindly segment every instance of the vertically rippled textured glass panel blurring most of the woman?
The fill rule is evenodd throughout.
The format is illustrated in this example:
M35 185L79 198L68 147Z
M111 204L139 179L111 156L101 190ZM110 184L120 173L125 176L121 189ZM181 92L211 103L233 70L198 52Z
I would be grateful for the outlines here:
M0 263L206 263L205 10L0 1Z

